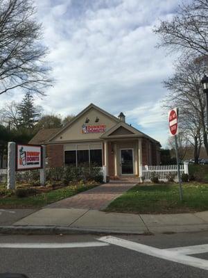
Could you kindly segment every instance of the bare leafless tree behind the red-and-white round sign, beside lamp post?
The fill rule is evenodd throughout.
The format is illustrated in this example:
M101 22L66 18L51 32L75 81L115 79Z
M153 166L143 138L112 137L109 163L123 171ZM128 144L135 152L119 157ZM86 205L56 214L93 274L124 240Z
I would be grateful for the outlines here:
M202 67L195 60L181 60L175 66L173 77L164 81L169 94L164 99L163 107L177 106L180 109L180 126L194 145L196 163L202 142L208 154L205 94L200 83L202 74Z

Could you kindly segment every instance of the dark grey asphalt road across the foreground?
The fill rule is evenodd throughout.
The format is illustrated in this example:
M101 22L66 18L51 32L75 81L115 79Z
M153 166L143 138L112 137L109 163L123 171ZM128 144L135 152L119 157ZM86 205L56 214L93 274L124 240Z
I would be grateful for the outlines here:
M100 237L90 235L0 236L0 273L19 272L31 278L208 277L208 270L159 257L160 253L163 254L163 250L167 248L190 245L203 245L207 248L207 232L158 236L116 236L128 242L133 241L135 247L139 243L138 248L144 247L147 252L149 252L148 248L155 247L153 252L156 250L157 253L159 248L161 250L158 256L150 256L144 252L130 250L128 247L107 244L98 238ZM122 241L127 245L128 242ZM77 247L76 243L80 246ZM86 247L87 244L92 246ZM94 246L96 244L98 246ZM208 269L208 249L206 250L207 252L200 254L189 254L188 258L203 259ZM151 249L150 252L152 252ZM175 256L175 258L180 259L180 256Z

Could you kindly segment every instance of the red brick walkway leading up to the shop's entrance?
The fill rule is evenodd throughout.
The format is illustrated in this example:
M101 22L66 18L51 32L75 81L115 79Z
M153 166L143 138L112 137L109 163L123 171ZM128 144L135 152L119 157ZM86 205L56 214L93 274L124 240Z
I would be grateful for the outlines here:
M105 183L73 197L50 204L47 208L103 209L107 207L113 199L119 197L119 195L132 188L132 186L135 186L135 184Z

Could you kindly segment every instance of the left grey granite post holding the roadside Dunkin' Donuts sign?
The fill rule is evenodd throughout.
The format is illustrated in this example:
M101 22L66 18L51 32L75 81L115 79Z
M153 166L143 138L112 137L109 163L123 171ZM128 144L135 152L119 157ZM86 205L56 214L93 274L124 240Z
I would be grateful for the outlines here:
M7 189L15 189L16 144L8 142Z

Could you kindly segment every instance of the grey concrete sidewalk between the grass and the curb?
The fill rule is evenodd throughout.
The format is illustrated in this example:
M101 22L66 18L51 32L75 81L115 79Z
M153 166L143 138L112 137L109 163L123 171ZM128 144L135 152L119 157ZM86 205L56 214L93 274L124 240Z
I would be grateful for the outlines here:
M1 222L2 225L2 222ZM24 227L55 229L59 231L89 231L126 234L163 234L177 232L208 231L208 211L200 213L145 215L130 213L105 213L80 208L43 208L14 222L10 229ZM3 226L0 227L0 232Z

